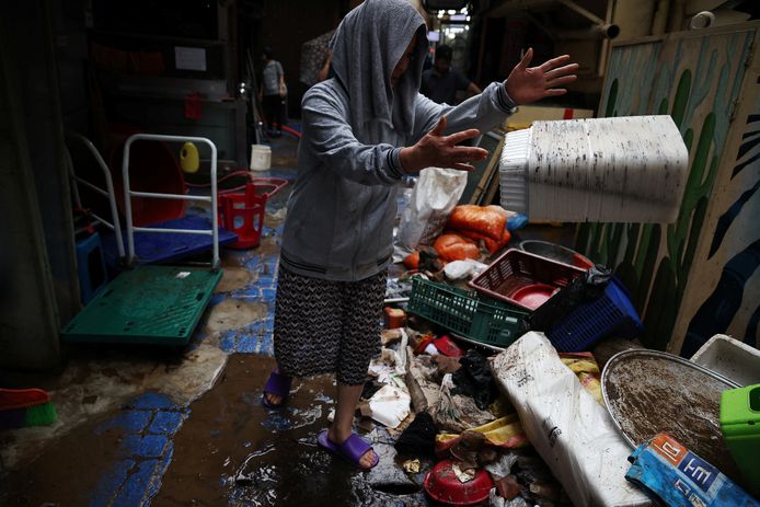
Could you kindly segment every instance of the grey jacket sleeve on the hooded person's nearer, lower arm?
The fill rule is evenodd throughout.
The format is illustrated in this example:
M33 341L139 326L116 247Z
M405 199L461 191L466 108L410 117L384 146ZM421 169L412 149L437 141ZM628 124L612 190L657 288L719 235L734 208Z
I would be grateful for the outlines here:
M307 92L301 104L303 134L299 149L311 152L341 176L365 185L395 185L404 176L401 148L364 145L354 136L338 101L318 91Z

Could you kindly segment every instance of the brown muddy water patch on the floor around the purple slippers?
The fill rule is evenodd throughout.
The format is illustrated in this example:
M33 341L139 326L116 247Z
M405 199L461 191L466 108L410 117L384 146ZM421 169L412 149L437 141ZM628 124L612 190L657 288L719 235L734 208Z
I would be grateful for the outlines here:
M230 357L216 387L191 405L152 505L424 505L418 493L411 495L418 486L405 477L389 486L380 470L361 473L316 447L333 404L331 378L295 384L285 410L262 406L273 366L269 358Z

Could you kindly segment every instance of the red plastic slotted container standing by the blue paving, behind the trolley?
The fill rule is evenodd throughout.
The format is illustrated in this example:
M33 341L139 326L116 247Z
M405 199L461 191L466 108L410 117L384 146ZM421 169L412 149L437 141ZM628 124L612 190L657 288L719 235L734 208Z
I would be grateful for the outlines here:
M247 250L258 246L264 228L264 210L269 194L256 194L256 185L245 185L244 194L219 196L219 226L238 234L238 241L224 246Z

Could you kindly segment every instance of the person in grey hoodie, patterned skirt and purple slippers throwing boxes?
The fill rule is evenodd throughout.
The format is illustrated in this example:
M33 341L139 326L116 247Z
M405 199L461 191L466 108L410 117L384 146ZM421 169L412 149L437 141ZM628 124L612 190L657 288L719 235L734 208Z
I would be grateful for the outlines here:
M318 441L361 469L378 462L352 433L371 356L379 349L396 186L427 166L471 171L487 152L457 146L502 123L517 104L565 91L567 56L528 68L457 107L418 93L427 44L406 0L366 0L332 41L335 77L303 97L298 176L283 237L275 310L278 367L263 402L287 402L291 377L334 372L337 407Z

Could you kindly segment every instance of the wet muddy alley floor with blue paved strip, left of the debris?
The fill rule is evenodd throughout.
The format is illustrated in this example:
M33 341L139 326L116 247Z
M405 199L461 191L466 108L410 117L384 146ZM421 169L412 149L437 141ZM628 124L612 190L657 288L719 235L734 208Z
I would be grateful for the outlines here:
M292 178L296 145L273 146L273 171L256 175ZM331 377L296 382L283 410L261 404L289 191L267 201L258 247L222 251L223 278L184 349L78 344L61 371L3 379L53 392L59 417L0 433L0 505L427 505L423 473L398 466L383 429L365 435L381 458L368 473L316 447Z

